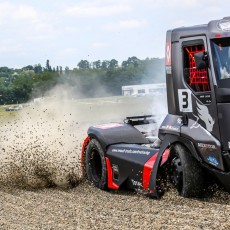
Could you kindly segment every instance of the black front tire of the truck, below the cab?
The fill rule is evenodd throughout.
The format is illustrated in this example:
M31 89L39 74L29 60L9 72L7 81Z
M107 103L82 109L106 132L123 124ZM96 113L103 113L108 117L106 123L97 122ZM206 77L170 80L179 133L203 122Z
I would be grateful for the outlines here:
M170 153L170 179L183 197L200 197L204 190L204 173L199 162L181 144Z

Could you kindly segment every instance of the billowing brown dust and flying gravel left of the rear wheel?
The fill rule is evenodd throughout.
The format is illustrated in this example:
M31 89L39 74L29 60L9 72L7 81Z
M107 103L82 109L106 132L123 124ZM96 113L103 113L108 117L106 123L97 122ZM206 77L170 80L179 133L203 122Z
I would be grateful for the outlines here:
M0 184L29 187L69 187L81 180L81 143L84 114L65 88L9 112L1 122ZM12 114L13 113L13 114Z

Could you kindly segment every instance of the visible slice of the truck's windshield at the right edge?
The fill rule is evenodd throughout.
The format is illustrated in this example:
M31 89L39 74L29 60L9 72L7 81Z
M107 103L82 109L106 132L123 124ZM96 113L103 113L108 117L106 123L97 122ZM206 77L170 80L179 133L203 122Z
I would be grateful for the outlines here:
M212 40L212 48L217 81L221 84L222 80L230 79L230 38Z

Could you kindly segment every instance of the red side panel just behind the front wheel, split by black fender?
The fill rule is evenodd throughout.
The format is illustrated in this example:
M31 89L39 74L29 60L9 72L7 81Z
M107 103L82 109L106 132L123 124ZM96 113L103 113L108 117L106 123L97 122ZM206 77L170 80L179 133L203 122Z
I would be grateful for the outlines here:
M170 150L166 149L162 155L161 165L163 165L168 160L169 153L170 153ZM158 155L158 153L153 155L145 163L144 168L143 168L142 184L143 184L143 188L146 190L148 190L148 188L149 188L149 181L150 181L150 177L151 177L151 172L153 170L155 161L157 159L157 155Z

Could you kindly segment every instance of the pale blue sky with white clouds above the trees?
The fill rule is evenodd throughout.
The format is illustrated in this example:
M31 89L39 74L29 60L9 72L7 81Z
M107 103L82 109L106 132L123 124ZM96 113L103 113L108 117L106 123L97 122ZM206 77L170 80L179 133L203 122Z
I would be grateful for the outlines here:
M230 16L229 0L0 0L0 66L163 58L168 29Z

